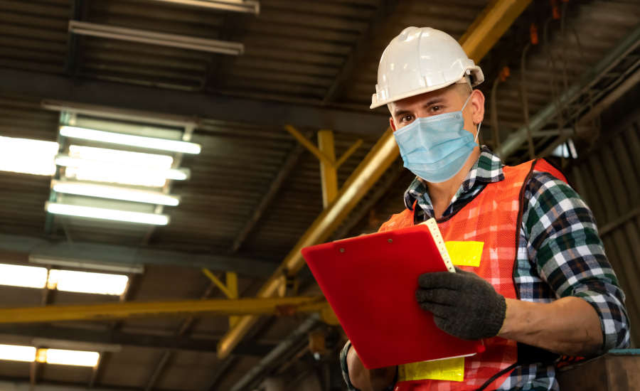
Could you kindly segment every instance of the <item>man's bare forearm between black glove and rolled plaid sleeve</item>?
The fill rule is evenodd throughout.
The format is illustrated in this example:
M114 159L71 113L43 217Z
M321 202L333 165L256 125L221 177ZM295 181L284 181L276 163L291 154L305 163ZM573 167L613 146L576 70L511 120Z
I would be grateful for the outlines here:
M602 346L597 312L579 297L548 304L506 299L498 336L565 355L591 355Z

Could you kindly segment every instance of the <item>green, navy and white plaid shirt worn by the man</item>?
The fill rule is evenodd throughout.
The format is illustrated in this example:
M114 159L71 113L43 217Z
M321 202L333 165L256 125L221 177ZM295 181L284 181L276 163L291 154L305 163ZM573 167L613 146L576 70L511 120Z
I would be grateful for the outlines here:
M476 164L452 198L443 216L452 215L474 198L487 183L504 180L503 164L483 147ZM604 254L591 210L570 186L548 173L533 173L526 183L526 203L513 270L518 297L548 303L565 296L585 299L596 310L602 327L599 353L629 346L629 321L624 293ZM417 180L405 191L405 207L417 201L416 223L434 217L426 186ZM349 390L347 343L340 355ZM516 367L498 390L559 390L555 366L532 364Z

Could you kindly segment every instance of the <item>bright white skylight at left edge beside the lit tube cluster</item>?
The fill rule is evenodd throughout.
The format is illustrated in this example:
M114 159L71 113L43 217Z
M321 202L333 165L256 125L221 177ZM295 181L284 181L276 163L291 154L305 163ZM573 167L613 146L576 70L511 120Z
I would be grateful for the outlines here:
M0 136L0 171L51 176L59 148L53 141Z

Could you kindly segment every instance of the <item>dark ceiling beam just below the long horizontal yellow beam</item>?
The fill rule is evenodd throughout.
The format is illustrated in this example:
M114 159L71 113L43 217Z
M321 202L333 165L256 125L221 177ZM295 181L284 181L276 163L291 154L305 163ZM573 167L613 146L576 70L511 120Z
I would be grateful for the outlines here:
M163 350L190 350L193 352L215 353L218 339L189 338L186 336L159 336L156 334L129 333L118 330L92 330L75 327L40 325L2 325L0 336L23 336L47 338L60 341L97 343L101 345L135 346ZM1 337L0 337L1 340ZM243 343L234 350L236 355L263 356L274 346L264 343ZM1 388L0 388L1 389Z

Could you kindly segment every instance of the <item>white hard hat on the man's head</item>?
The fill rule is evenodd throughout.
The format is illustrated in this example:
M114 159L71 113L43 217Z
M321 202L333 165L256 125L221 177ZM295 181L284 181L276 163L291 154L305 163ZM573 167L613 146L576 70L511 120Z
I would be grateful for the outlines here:
M430 27L407 27L380 57L370 108L447 87L465 75L472 86L484 81L480 67L452 36Z

